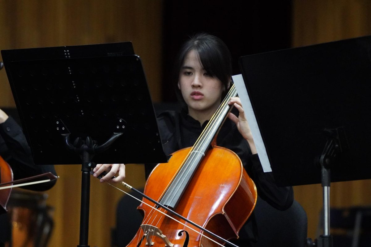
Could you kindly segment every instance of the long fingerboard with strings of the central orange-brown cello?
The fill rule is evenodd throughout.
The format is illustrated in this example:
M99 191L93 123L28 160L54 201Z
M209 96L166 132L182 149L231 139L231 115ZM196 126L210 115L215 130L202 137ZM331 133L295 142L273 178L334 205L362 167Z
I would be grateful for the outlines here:
M232 109L232 106L228 105L230 98L236 96L237 90L234 87L234 84L232 84L223 102L220 104L219 108L211 117L209 123L202 131L200 137L198 137L196 143L191 148L187 157L184 159L180 170L175 175L168 189L165 191L163 197L160 200L161 204L175 208L189 181L193 177L193 174L196 171L198 165L201 163L203 157L205 156L206 151L209 149L213 139L219 132L221 125L226 120L227 114Z

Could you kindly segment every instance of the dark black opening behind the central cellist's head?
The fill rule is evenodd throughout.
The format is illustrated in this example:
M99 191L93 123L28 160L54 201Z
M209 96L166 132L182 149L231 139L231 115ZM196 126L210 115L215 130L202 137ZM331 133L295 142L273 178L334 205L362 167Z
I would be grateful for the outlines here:
M226 4L228 3L228 4ZM213 34L232 54L233 74L241 56L291 47L291 1L165 1L162 100L176 101L173 63L181 44L199 32Z

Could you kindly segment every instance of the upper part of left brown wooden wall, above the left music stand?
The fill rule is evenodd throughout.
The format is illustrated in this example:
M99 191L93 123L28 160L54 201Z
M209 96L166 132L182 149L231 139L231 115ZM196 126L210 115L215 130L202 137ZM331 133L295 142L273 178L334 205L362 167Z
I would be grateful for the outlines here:
M0 0L0 49L132 41L159 101L161 23L161 0ZM0 83L0 106L14 106L4 71Z

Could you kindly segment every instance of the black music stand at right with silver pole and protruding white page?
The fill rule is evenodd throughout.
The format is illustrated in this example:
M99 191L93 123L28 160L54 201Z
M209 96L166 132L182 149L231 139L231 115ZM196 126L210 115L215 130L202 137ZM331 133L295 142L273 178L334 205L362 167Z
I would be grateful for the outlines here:
M318 246L332 246L330 182L371 178L370 58L368 36L239 61L277 184L322 182Z

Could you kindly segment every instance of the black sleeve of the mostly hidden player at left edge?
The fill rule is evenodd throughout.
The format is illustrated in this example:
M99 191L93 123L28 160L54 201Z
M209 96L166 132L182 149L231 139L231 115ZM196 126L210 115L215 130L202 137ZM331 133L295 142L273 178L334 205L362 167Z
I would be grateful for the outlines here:
M36 176L51 172L56 175L53 165L35 165L31 149L27 144L21 127L9 116L0 124L0 156L10 165L13 171L13 180ZM52 188L56 180L24 186L23 188L44 191Z

